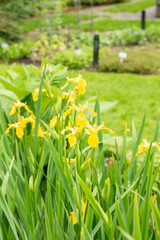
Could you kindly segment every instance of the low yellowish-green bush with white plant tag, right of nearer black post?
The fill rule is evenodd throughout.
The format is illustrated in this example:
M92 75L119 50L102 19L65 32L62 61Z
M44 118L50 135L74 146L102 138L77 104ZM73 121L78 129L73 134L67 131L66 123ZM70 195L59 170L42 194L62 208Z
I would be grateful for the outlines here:
M119 52L125 51L127 58L120 62ZM160 53L154 50L128 49L110 50L102 48L100 51L99 69L106 72L131 72L138 74L159 73Z

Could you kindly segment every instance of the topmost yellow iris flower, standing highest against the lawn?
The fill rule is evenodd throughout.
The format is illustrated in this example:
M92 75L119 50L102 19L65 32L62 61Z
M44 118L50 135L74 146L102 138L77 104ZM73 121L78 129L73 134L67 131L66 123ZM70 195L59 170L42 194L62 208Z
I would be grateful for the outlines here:
M82 78L82 75L79 74L79 76L76 78L67 78L66 84L61 89L64 89L65 87L67 87L69 82L73 82L76 84L73 91L77 91L81 95L85 94L86 80Z

